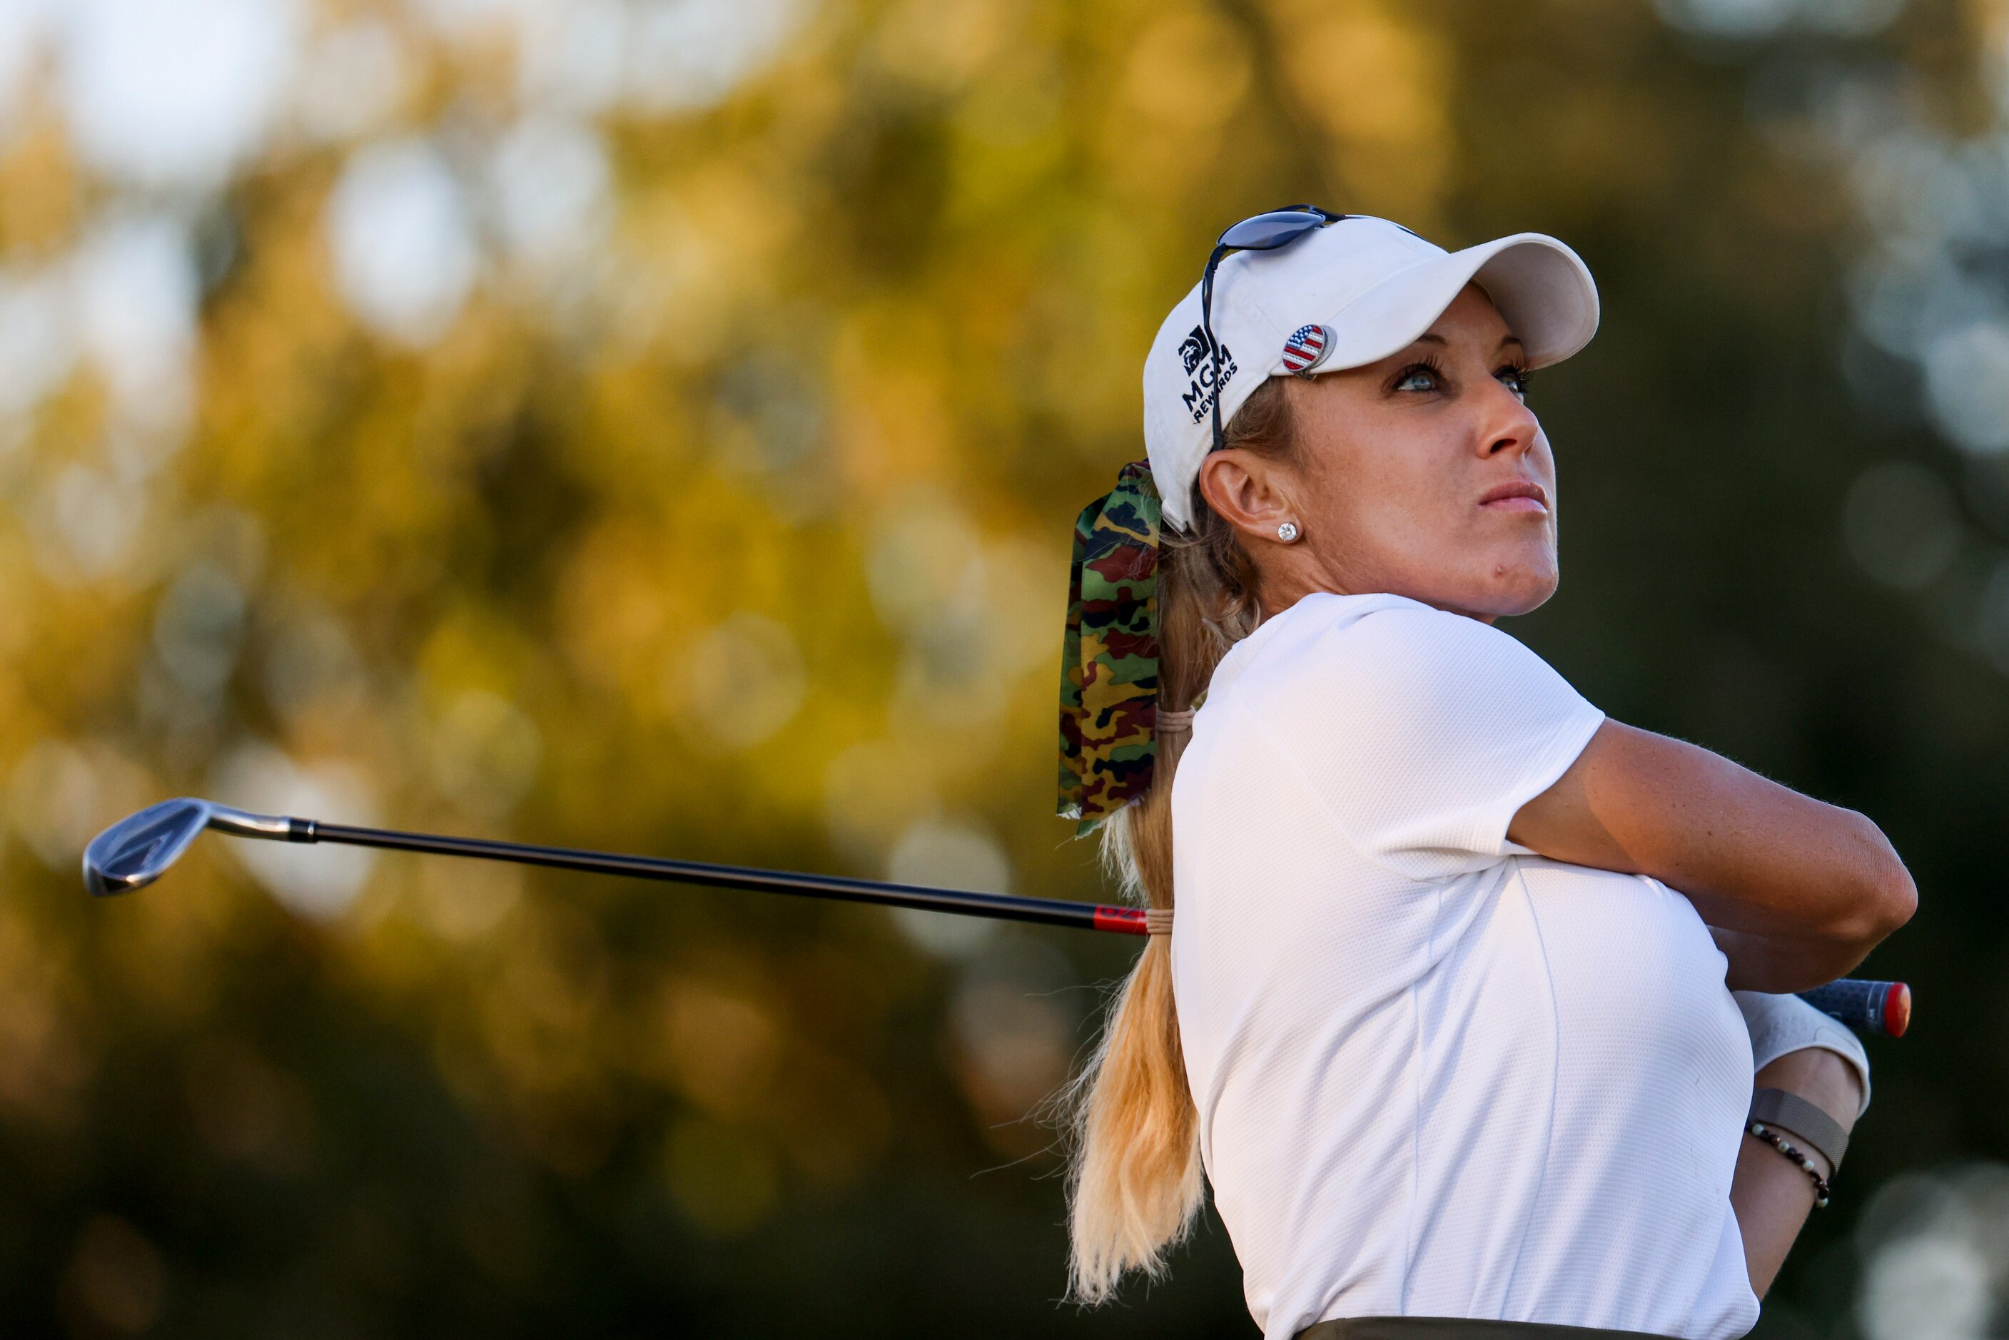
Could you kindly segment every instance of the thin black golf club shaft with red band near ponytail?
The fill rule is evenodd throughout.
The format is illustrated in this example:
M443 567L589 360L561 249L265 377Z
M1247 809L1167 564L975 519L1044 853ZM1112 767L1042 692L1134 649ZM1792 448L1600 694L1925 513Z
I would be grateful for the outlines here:
M1107 930L1113 934L1145 934L1141 908L1119 908L1061 898L1019 898L1013 894L980 894L960 888L926 888L920 884L886 884L880 880L848 880L830 874L798 874L792 870L753 870L745 866L711 866L693 860L663 860L659 856L627 856L621 852L585 852L577 848L546 848L526 842L488 842L482 838L446 838L438 834L408 834L390 828L352 828L317 820L289 820L287 842L342 842L346 846L384 848L394 852L428 852L432 856L474 856L508 860L522 866L552 870L583 870L587 874L619 874L637 880L667 880L673 884L707 884L711 888L751 888L763 894L794 894L798 898L838 898L870 902L882 908L918 908L924 912L962 912L1039 926L1073 926L1077 930Z

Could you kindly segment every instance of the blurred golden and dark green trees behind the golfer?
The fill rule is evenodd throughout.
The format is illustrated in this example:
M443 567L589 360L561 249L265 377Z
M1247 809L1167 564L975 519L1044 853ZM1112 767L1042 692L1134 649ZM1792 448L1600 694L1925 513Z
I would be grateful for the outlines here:
M1131 944L209 840L1101 896L1069 522L1225 223L1539 229L1593 701L1892 834L1919 1023L1760 1336L2009 1298L2009 6L0 4L8 1334L1248 1336L1059 1306ZM1651 1159L1655 1151L1641 1149Z

